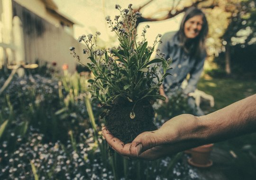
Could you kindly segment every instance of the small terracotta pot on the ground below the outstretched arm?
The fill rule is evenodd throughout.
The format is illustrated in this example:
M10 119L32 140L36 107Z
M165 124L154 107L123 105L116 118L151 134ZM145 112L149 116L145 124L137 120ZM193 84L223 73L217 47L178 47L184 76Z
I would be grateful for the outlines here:
M210 167L212 161L210 160L210 153L212 152L213 144L201 145L189 150L191 158L188 159L188 163L196 167Z

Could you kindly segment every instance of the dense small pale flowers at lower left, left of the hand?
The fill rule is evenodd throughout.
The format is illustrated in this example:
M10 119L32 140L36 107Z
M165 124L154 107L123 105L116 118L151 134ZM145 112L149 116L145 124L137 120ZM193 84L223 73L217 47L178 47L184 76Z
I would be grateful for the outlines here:
M13 153L7 149L11 144L0 144L0 179L27 180L34 179L31 172L32 166L37 170L40 180L65 179L65 180L88 180L88 179L113 179L111 171L107 171L99 158L90 154L99 150L93 149L92 129L80 135L81 143L71 141L67 144L43 143L44 135L30 134L27 142L21 142L19 148ZM95 154L95 157L97 155Z

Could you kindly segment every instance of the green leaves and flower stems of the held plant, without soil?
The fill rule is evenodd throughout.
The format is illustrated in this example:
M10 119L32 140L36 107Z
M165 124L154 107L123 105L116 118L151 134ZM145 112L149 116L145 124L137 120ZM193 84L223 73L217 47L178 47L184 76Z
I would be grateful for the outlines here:
M91 60L87 65L95 76L95 79L88 81L91 83L92 99L97 99L102 105L107 106L111 106L117 97L127 98L135 104L142 99L149 101L165 99L158 95L158 89L165 76L169 75L165 72L171 61L166 61L162 57L150 61L151 54L161 36L158 35L153 47L149 47L143 36L146 32L145 28L143 40L137 42L136 21L141 16L140 13L134 12L131 5L123 10L116 5L116 9L119 10L122 20L119 20L120 16L116 16L114 21L107 16L106 20L111 31L118 36L119 47L109 50L97 49L99 32L96 32L94 38L91 34L79 37L79 42L84 42L87 47L84 53L88 53ZM80 57L75 54L74 48L70 50L80 62ZM160 65L164 69L161 79L157 76Z

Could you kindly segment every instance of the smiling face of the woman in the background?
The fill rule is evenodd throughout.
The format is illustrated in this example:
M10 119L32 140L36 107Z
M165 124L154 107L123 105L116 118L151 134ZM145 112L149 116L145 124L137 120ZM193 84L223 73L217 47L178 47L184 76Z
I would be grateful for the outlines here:
M189 18L184 24L185 36L189 39L193 39L198 36L202 29L202 24L203 20L201 15Z

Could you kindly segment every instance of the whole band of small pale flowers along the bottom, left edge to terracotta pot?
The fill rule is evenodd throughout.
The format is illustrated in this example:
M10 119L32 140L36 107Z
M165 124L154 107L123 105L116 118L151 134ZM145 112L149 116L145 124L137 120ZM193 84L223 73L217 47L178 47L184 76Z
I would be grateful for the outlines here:
M0 179L32 180L35 178L32 173L33 166L40 180L114 180L115 174L110 164L106 165L103 161L103 153L95 146L92 132L91 128L86 129L80 134L76 144L70 140L66 144L59 141L43 143L45 135L30 133L27 141L19 141L19 146L13 153L8 150L12 146L11 142L1 142ZM170 157L160 159L157 163L141 161L141 168L138 170L137 161L128 161L126 179L137 179L138 172L142 176L159 180L167 180L167 177L183 180L198 179L196 171L182 160L174 165L172 171L167 171L171 162ZM165 173L166 171L168 174ZM119 179L125 179L124 175L120 174Z

